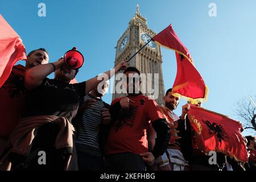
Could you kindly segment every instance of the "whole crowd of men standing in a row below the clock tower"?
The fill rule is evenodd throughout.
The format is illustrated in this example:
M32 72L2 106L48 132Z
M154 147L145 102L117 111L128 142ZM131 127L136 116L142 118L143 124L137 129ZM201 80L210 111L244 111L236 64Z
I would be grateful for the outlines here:
M26 65L15 65L0 88L1 170L89 171L245 171L256 169L256 139L247 136L249 162L217 152L217 163L200 151L187 113L174 110L180 98L168 89L164 105L139 92L141 73L121 61L126 97L109 105L102 96L109 80L98 76L70 84L79 69L63 58L48 63L44 48L31 51ZM53 79L47 78L55 73ZM110 79L112 71L105 72ZM102 86L98 86L104 82ZM197 102L201 107L201 102ZM39 152L46 163L39 163ZM44 159L42 159L44 160Z

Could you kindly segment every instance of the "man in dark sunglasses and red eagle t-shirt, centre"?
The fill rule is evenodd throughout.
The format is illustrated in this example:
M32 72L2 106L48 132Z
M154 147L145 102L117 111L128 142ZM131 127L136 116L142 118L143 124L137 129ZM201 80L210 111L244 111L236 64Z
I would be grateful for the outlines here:
M146 170L158 156L162 155L170 139L170 127L154 100L139 92L141 80L137 68L129 67L123 72L127 78L125 88L127 97L112 101L110 127L105 169L108 170ZM152 152L148 151L147 130L154 127L158 138Z

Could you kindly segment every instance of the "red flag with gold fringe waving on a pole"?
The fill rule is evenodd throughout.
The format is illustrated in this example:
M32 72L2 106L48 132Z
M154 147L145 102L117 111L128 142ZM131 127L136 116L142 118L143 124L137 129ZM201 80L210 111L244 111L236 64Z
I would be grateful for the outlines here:
M205 85L203 78L193 65L192 56L175 34L172 25L155 35L152 40L160 46L174 50L176 53L177 75L172 86L172 92L191 101L207 100L207 85Z

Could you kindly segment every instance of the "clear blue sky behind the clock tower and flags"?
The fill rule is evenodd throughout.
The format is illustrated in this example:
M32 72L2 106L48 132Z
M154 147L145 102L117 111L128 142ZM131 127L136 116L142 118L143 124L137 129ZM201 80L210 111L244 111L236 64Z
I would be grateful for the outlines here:
M38 4L46 4L46 17ZM256 1L0 1L0 13L22 38L27 52L44 47L50 61L78 47L85 64L77 75L84 81L114 66L117 40L139 3L148 26L160 32L172 23L209 87L204 107L237 119L237 101L256 95ZM208 15L216 3L217 16ZM165 89L176 76L175 53L162 48ZM112 94L104 96L111 102ZM181 114L181 101L176 113ZM253 134L250 130L243 133ZM254 133L255 134L255 133Z

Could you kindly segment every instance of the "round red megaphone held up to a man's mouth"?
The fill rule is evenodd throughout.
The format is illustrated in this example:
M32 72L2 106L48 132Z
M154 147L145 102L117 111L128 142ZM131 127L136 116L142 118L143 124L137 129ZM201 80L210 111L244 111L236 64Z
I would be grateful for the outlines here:
M64 62L69 68L79 69L84 64L84 56L82 56L81 52L77 51L76 47L73 47L65 53Z

